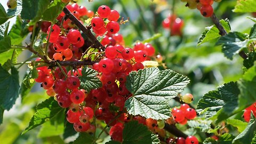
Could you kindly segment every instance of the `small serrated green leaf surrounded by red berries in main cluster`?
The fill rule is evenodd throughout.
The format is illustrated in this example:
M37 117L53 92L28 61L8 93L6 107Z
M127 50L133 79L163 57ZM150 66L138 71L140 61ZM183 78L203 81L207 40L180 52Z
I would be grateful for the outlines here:
M83 68L82 76L79 77L81 81L81 88L90 92L92 89L97 89L102 86L100 79L97 77L98 72L92 68Z

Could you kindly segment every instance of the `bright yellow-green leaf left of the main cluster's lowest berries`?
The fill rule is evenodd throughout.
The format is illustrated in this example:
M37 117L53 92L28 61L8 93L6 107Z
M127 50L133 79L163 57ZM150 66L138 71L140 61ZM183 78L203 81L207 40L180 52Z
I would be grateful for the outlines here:
M38 137L45 138L63 134L65 118L65 110L62 110L57 116L42 125Z

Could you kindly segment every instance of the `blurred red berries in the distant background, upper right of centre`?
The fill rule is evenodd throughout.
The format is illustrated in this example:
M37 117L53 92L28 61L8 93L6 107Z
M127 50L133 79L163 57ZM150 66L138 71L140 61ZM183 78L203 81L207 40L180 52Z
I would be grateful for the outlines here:
M180 18L177 18L175 14L169 15L162 22L163 28L169 29L171 31L172 36L175 36L175 35L181 36L183 25L184 25L183 20Z

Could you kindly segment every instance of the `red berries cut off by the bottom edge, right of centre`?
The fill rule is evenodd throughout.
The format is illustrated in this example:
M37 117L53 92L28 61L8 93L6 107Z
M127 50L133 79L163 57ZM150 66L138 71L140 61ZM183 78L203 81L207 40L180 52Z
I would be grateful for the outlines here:
M169 139L167 139L167 143L168 144L172 144L172 143L175 143L175 144L198 144L198 140L194 136L188 136L186 139L184 139L182 137L179 137L176 139L169 138Z

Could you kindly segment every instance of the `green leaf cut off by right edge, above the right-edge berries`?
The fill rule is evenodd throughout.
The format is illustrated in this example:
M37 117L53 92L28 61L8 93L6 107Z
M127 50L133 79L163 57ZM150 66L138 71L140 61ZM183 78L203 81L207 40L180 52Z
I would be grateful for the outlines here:
M238 87L241 91L239 95L239 109L244 109L250 105L252 105L253 102L256 101L256 66L254 65L250 69L246 71L246 73L243 75L241 79L239 79Z

